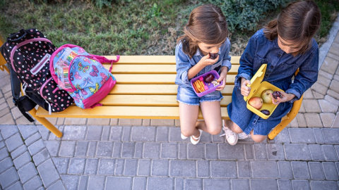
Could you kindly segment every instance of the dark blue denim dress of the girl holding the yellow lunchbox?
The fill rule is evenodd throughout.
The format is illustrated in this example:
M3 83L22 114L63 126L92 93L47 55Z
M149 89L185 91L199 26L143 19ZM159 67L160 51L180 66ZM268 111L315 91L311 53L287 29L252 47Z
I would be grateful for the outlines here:
M241 78L251 80L262 64L267 64L263 81L283 89L286 93L295 94L295 98L288 102L279 103L277 108L267 120L246 108L246 101L242 96ZM230 120L235 122L246 134L254 130L254 134L267 135L270 130L278 125L292 108L294 101L300 99L304 91L309 89L318 79L319 47L315 39L311 41L309 51L292 56L285 53L278 46L278 38L269 40L263 34L263 29L258 30L246 46L240 58L238 75L235 77L232 93L232 103L227 106ZM292 81L292 76L299 68L299 74Z

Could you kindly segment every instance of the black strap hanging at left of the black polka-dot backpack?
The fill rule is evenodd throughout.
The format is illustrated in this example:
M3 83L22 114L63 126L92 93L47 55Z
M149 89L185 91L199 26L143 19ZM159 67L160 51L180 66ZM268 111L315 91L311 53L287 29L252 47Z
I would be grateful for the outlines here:
M8 67L11 72L11 87L12 87L12 96L13 103L17 106L20 112L27 118L30 122L34 122L33 118L28 115L28 111L32 110L37 106L37 103L32 101L28 96L20 96L21 93L21 82L16 75L16 72L13 71L11 67Z

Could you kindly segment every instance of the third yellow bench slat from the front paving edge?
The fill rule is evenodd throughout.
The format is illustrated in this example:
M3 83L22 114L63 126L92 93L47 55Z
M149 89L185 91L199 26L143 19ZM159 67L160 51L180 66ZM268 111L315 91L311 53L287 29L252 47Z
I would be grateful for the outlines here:
M234 85L226 85L222 95L232 94ZM177 95L177 84L117 84L109 94L165 94Z

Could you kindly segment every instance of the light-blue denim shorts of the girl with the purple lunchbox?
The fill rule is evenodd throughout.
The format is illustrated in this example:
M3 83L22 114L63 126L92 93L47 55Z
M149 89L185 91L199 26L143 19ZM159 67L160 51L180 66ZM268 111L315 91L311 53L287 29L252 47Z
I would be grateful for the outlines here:
M193 88L178 87L177 101L190 106L199 106L203 101L220 101L222 98L220 91L213 91L210 94L199 97L196 95Z

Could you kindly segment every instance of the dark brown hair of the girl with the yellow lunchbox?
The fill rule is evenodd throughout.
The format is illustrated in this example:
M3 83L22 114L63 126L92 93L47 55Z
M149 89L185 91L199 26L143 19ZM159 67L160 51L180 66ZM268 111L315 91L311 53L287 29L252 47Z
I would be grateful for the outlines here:
M321 24L321 12L314 1L295 1L288 4L278 15L265 26L264 34L267 39L278 37L295 43L299 48L293 56L302 54L311 48L311 39Z

